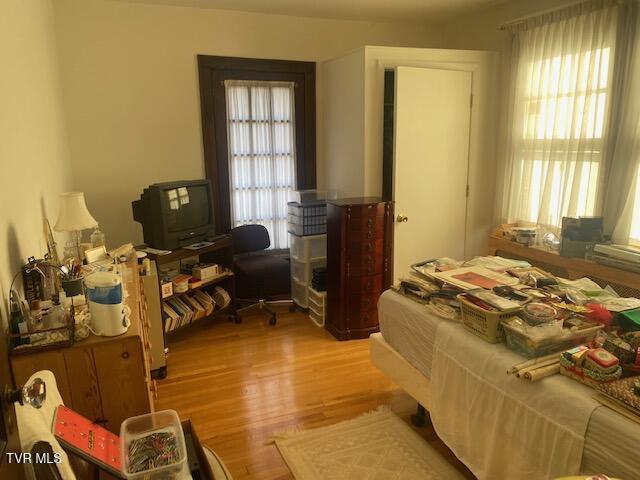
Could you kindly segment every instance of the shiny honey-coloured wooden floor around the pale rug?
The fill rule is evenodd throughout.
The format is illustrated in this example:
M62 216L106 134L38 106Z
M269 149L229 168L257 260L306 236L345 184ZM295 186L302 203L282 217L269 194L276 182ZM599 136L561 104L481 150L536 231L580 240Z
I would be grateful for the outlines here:
M330 425L391 409L408 422L415 402L369 362L367 340L338 342L302 313L245 315L242 324L205 322L169 339L168 376L156 408L190 418L204 444L235 479L292 478L273 432ZM437 438L416 429L468 478L470 472Z

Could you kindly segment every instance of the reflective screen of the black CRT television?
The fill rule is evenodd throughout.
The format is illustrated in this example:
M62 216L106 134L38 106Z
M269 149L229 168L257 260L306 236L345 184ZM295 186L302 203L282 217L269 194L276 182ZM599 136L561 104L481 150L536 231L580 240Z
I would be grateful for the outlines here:
M181 232L211 222L209 218L209 191L205 185L167 188L163 192L167 230Z

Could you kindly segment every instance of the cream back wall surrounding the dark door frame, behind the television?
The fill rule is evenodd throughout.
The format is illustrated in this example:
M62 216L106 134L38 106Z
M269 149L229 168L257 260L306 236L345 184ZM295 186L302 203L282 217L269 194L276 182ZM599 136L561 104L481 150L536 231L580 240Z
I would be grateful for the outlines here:
M101 0L55 5L76 185L110 245L142 240L130 203L143 187L204 175L197 54L321 61L371 43L439 42L439 32L416 25ZM320 82L317 93L322 185Z

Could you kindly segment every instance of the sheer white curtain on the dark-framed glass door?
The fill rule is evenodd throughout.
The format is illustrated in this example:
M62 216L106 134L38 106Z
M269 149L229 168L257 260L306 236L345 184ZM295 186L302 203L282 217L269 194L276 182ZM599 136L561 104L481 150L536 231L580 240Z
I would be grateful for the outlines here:
M232 225L269 230L288 248L287 201L295 189L294 85L225 81Z

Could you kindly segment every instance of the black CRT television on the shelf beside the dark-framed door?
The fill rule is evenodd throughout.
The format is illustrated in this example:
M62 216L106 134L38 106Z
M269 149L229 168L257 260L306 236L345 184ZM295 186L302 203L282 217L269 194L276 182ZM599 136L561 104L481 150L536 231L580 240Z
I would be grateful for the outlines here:
M144 242L154 248L173 250L215 233L209 180L154 183L131 206Z

